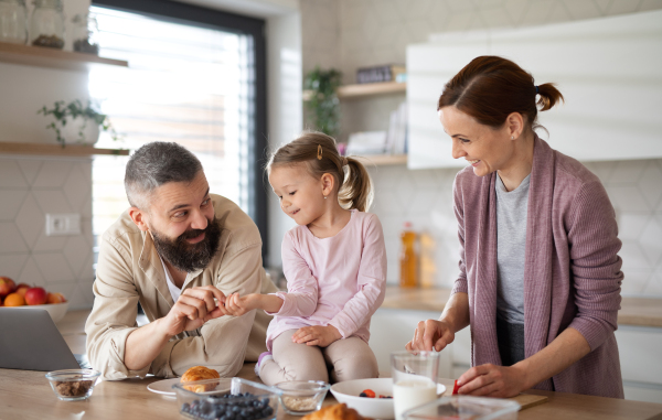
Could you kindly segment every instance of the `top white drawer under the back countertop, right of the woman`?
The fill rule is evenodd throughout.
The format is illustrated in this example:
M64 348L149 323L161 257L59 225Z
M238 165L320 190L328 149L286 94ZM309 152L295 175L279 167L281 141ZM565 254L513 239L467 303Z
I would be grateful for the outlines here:
M616 340L623 381L662 385L662 329L619 325Z

